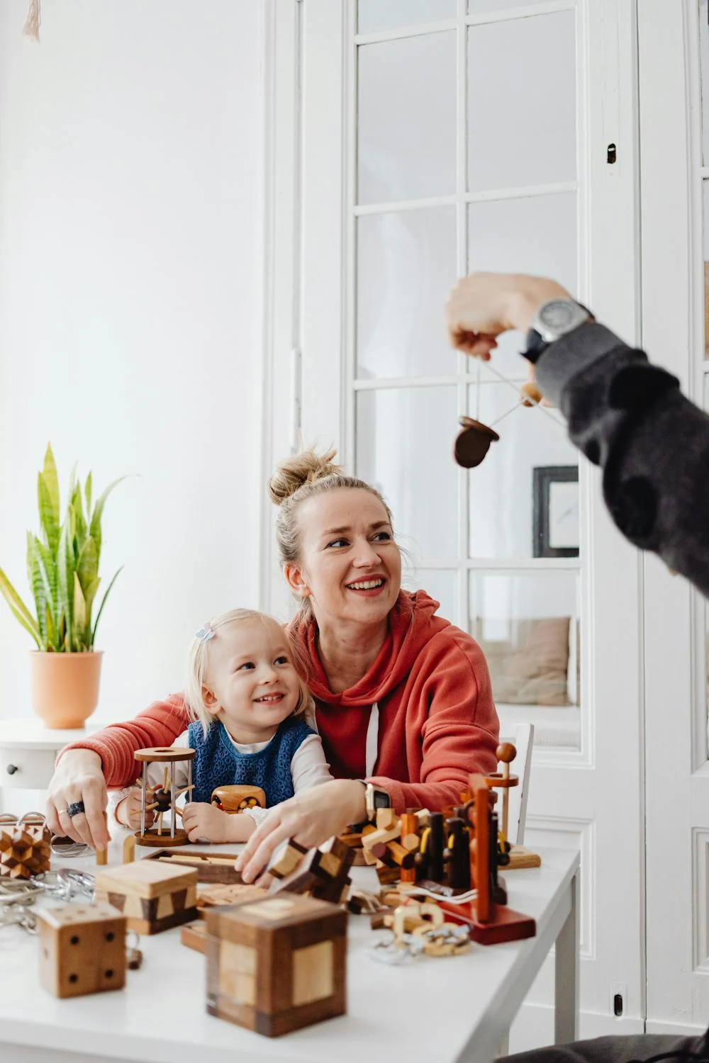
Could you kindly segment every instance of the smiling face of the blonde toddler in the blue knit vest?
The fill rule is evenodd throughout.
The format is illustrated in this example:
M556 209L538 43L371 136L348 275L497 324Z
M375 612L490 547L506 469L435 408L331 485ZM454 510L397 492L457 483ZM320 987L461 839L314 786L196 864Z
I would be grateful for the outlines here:
M298 705L299 681L286 635L268 620L243 620L218 628L209 645L207 705L224 723L248 729L275 728Z

